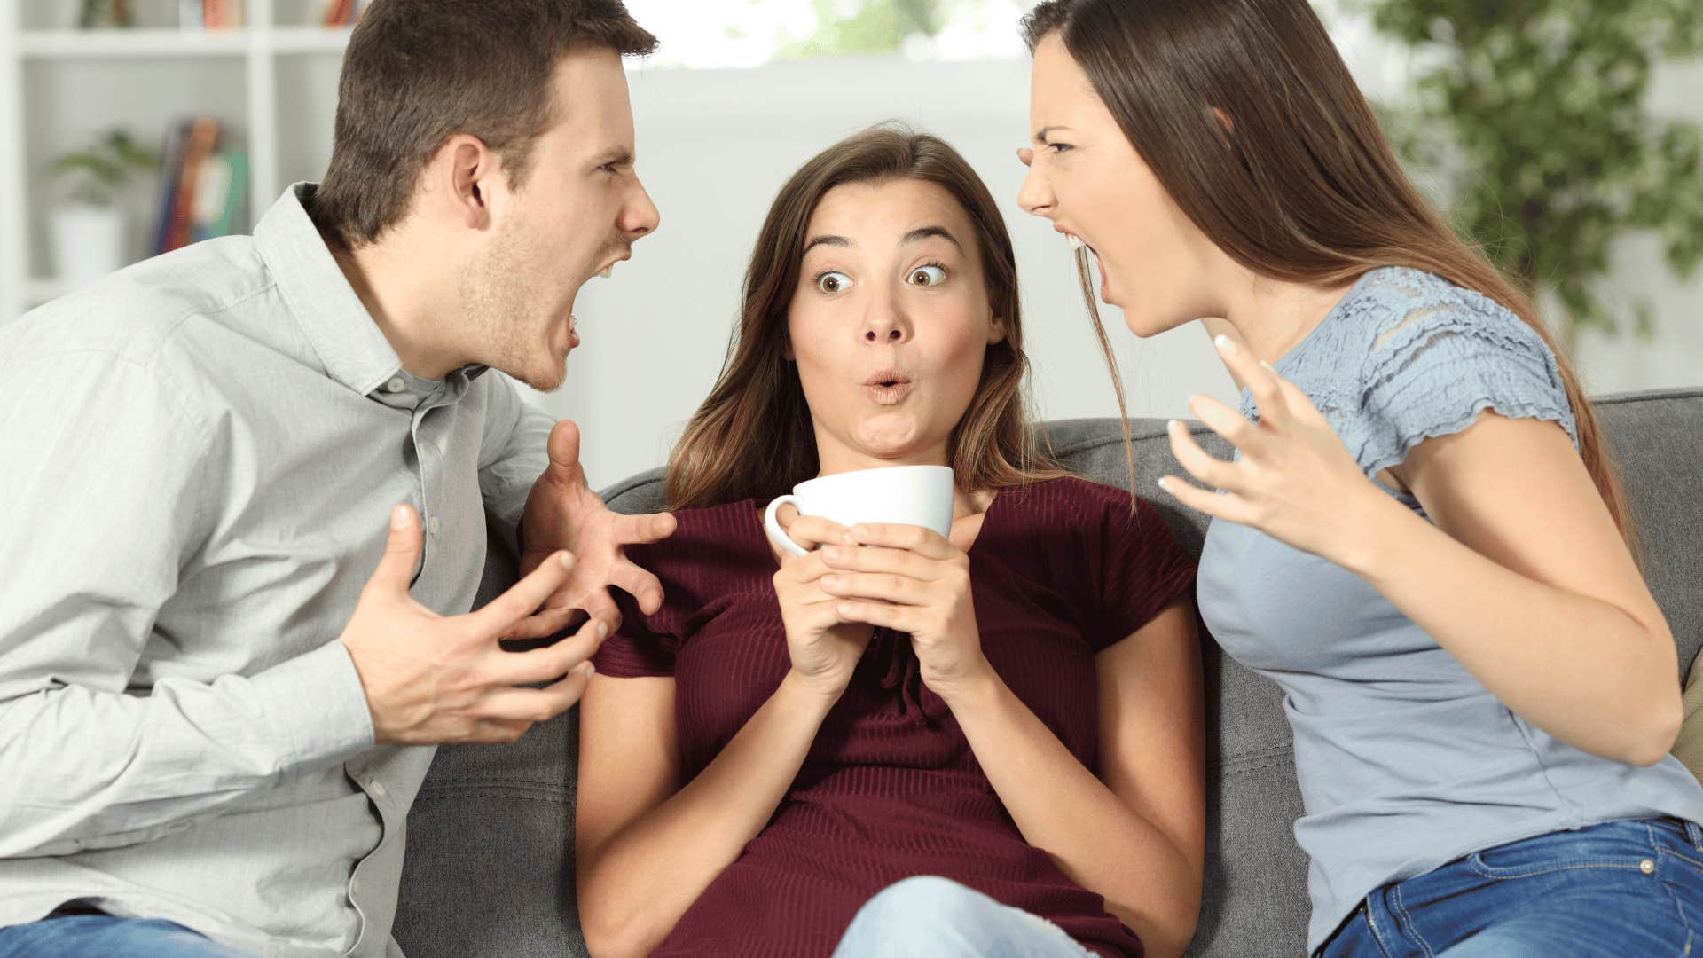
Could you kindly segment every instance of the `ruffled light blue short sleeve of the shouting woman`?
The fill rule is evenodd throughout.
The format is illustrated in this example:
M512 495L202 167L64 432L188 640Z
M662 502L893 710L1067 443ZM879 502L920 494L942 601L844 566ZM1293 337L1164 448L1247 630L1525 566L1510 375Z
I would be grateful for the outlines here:
M1459 433L1485 409L1548 419L1577 443L1555 355L1534 329L1485 300L1425 303L1373 344L1362 411L1345 445L1368 476L1407 460L1419 443Z

